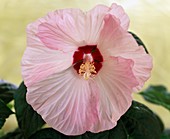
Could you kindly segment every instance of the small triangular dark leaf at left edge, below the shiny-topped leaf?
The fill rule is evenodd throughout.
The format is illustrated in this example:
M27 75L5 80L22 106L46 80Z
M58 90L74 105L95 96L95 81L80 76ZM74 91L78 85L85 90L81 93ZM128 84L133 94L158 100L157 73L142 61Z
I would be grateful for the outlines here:
M0 99L0 129L4 125L6 118L13 112L6 106L6 104Z

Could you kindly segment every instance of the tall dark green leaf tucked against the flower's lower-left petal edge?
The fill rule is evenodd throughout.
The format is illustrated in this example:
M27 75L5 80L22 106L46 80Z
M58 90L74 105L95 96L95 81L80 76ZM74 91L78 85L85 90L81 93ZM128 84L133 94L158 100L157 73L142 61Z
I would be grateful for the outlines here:
M45 124L36 111L26 102L27 88L22 82L18 90L14 94L15 111L18 125L24 133L24 137L28 138Z

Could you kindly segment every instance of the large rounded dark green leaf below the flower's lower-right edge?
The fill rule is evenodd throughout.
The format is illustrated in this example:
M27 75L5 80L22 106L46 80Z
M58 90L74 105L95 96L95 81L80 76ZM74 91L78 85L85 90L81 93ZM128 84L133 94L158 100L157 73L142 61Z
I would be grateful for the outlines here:
M148 107L133 101L121 118L127 139L160 139L163 123Z

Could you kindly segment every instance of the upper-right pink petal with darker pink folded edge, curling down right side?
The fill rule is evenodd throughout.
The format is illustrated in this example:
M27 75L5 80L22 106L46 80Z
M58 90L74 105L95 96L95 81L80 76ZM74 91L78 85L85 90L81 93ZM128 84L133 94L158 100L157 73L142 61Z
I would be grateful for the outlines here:
M139 85L134 91L141 89L148 80L152 69L152 58L139 47L130 33L120 27L120 23L111 15L105 17L105 24L99 38L99 50L104 59L108 56L121 56L134 62L133 73Z

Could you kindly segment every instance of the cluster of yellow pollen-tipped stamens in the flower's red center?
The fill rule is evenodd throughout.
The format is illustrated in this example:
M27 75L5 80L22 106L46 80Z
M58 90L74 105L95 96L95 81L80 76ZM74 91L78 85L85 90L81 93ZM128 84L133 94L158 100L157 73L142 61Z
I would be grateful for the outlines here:
M88 80L97 73L95 69L94 62L86 61L80 65L79 75L83 76L85 80Z

